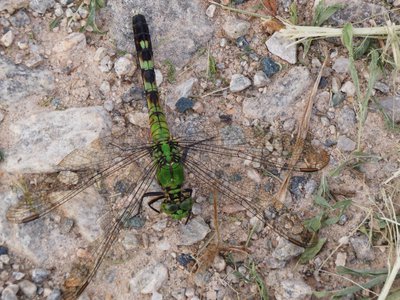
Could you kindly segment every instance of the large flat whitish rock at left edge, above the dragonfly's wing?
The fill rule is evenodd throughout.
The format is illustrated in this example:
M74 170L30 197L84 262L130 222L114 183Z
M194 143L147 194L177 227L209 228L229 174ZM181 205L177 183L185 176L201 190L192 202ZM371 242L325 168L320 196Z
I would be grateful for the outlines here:
M99 106L31 115L11 124L14 142L5 151L2 168L25 173L55 171L67 154L87 147L110 128L110 117Z

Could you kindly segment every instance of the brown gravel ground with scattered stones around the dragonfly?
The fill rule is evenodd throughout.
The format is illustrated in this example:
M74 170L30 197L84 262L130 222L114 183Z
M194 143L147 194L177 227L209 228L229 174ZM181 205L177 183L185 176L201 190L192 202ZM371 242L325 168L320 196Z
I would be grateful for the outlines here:
M388 258L395 258L393 239L387 238L388 227L378 217L382 212L388 216L385 199L397 210L400 190L398 175L393 176L399 172L400 135L387 126L387 119L400 122L398 78L392 69L379 70L372 89L359 149L368 159L359 166L344 164L332 175L355 157L359 134L357 86L340 39L314 41L303 57L302 44L293 45L259 18L201 0L142 2L109 1L97 10L102 34L84 27L91 18L89 1L0 2L1 299L62 299L73 262L98 244L130 184L143 179L145 159L43 218L20 225L6 219L6 211L24 195L21 178L34 186L41 182L37 174L54 174L64 157L82 164L69 154L128 127L127 141L148 142L147 107L131 29L135 13L144 14L150 27L157 85L172 132L217 132L226 147L235 149L233 142L245 142L252 147L249 153L262 148L280 165L291 155L290 144L328 50L308 131L311 145L324 149L330 162L316 173L296 172L284 203L303 221L321 220L324 212L331 223L318 233L327 239L322 250L299 264L303 248L188 171L195 198L190 222L171 220L145 205L145 222L121 230L81 299L260 299L260 287L270 299L312 299L312 292L340 290L351 286L350 280L364 283L373 278L339 275L338 267L386 268ZM261 3L273 1L220 1L229 2L266 14ZM304 25L311 24L314 9L305 2L297 7L298 23ZM398 1L326 1L344 2L347 6L326 25L371 26L366 19L371 15L379 25L382 13L393 21L398 18L396 12L389 13ZM290 4L278 1L277 15L289 18ZM367 56L355 63L363 94L371 78L368 64ZM103 155L108 159L101 151L84 153L88 161L102 160ZM262 201L272 199L279 188L276 177L284 175L276 168L267 172L263 163L250 159L211 154L194 159L267 210L271 203ZM75 175L57 178L71 180ZM329 204L316 196L321 196L322 178L332 195L323 194ZM153 181L149 191L158 190ZM214 240L216 195L221 233L217 250L208 245ZM332 209L344 200L351 204ZM204 265L194 273L193 258L205 248ZM376 298L384 281L342 298Z

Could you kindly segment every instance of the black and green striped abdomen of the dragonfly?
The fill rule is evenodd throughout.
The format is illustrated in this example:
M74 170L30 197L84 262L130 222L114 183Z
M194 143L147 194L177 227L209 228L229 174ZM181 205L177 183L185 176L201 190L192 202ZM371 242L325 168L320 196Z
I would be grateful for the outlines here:
M154 142L167 141L170 138L170 132L160 105L149 28L143 15L134 16L132 22L138 65L142 72L143 86L149 109L151 136Z

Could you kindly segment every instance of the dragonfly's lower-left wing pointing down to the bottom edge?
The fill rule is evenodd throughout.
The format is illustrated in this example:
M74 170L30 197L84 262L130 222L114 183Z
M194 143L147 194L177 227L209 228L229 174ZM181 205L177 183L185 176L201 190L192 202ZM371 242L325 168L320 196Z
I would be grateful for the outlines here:
M95 276L103 259L118 238L119 232L124 227L127 219L139 213L142 197L150 186L156 171L156 164L150 162L142 172L138 184L132 183L128 194L122 199L122 212L116 217L112 213L108 217L108 225L104 229L104 235L98 239L95 246L85 257L73 264L70 276L64 282L65 299L77 299L86 286Z

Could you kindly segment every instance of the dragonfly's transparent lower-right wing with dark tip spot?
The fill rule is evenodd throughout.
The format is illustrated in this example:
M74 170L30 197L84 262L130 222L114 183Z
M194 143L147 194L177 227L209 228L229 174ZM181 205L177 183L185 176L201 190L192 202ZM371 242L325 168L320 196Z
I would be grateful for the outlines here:
M297 215L280 202L273 201L272 191L266 191L271 182L269 177L246 166L241 157L235 159L228 156L224 159L222 154L214 154L188 151L185 167L202 185L206 184L227 199L240 204L277 234L298 246L308 244L311 236Z

